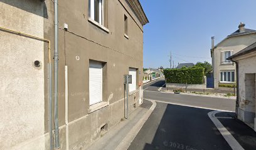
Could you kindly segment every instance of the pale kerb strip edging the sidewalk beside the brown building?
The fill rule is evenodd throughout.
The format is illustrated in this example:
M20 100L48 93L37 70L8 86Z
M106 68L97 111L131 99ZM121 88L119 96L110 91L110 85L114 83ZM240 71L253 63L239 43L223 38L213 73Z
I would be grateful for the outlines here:
M151 100L149 100L151 101ZM132 141L136 137L136 135L139 133L141 130L142 126L144 123L146 123L147 119L151 115L151 113L154 111L156 108L156 102L151 101L153 104L151 108L147 111L146 114L142 116L142 118L138 121L138 123L131 129L131 131L125 136L125 138L121 141L121 143L115 148L115 150L126 150L129 148L131 145Z

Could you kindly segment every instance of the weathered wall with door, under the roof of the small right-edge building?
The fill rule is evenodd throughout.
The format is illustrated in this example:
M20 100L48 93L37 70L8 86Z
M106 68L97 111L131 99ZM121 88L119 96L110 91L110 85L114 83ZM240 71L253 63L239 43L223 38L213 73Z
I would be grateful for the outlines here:
M239 109L238 118L249 124L256 131L255 119L255 85L256 85L256 52L238 59ZM253 77L253 78L251 78ZM253 88L254 87L254 88Z

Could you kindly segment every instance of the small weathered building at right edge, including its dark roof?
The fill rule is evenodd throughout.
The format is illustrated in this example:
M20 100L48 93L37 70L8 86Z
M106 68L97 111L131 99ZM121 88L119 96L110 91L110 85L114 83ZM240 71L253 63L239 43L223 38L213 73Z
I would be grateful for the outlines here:
M256 42L228 59L237 64L237 117L256 131Z

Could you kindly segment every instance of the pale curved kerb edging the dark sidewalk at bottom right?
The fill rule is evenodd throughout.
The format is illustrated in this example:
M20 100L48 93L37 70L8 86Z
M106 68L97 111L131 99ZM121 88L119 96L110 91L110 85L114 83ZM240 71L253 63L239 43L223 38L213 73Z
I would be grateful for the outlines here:
M227 143L233 150L244 150L242 146L237 142L237 140L232 136L232 134L215 117L216 113L220 113L220 111L211 111L208 113L208 116L211 119L211 121L213 121L216 128L218 128L223 138L227 141Z

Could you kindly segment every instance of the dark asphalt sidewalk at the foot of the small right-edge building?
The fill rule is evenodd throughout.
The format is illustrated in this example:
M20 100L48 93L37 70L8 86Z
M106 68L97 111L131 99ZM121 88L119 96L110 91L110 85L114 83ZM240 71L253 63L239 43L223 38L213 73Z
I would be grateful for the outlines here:
M235 119L235 113L222 112L215 116L243 149L256 149L256 132L239 119Z

